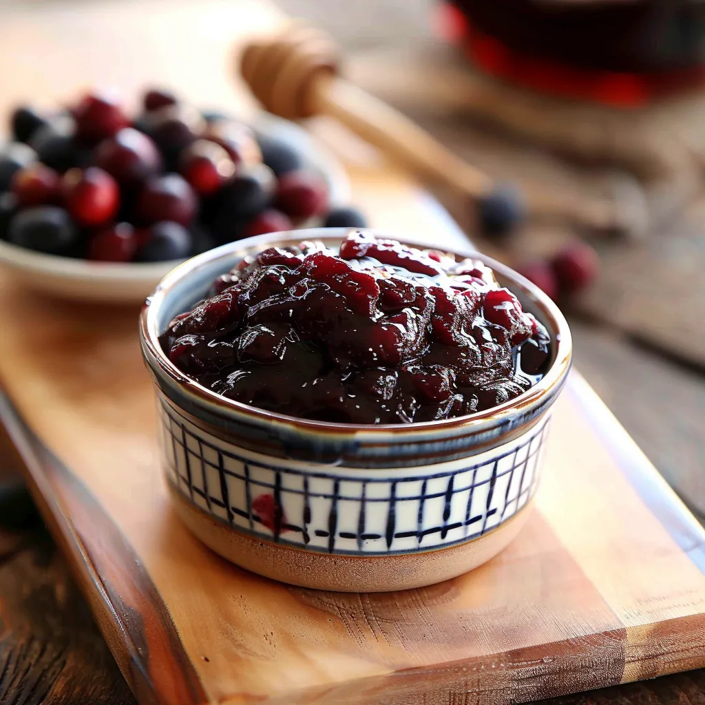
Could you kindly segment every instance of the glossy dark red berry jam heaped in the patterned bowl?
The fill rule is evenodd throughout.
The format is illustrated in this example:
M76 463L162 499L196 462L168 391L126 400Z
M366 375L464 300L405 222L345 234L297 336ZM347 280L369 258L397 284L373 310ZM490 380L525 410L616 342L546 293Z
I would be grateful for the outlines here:
M544 326L484 264L361 232L339 254L305 242L247 257L160 340L228 399L354 424L474 414L551 362Z

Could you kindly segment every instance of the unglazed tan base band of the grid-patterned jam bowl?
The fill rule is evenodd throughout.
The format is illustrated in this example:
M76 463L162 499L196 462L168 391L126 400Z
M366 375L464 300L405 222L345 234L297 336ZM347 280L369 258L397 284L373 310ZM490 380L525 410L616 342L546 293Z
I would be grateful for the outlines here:
M390 556L347 556L275 544L213 520L168 484L185 525L206 546L259 575L300 587L336 592L390 592L432 585L458 577L503 550L525 525L533 503L509 520L466 544Z

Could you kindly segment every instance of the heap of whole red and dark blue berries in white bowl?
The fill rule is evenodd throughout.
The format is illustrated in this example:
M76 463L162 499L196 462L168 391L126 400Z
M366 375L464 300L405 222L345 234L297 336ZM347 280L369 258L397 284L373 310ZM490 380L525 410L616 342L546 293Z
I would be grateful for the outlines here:
M364 226L329 209L326 185L286 142L165 91L130 118L111 94L68 111L18 108L0 149L0 240L97 262L184 259L312 217Z

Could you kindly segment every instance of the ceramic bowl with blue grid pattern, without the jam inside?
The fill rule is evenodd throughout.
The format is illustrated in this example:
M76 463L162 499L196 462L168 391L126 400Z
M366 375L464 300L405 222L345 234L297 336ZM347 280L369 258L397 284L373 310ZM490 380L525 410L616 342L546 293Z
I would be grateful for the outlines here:
M169 321L245 255L312 239L337 247L347 232L242 240L195 257L161 281L141 319L161 465L186 525L243 568L337 591L441 582L501 551L537 491L551 405L571 361L568 325L537 287L469 248L452 253L491 266L556 341L539 384L469 417L354 425L279 415L187 379L159 346Z

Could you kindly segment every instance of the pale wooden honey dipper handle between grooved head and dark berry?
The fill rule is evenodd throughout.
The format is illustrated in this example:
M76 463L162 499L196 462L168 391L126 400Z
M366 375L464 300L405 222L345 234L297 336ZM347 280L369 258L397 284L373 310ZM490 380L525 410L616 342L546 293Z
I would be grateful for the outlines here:
M474 199L491 190L489 176L455 157L398 111L347 81L321 77L313 93L317 112L338 119L412 171Z

